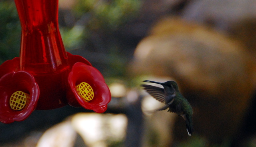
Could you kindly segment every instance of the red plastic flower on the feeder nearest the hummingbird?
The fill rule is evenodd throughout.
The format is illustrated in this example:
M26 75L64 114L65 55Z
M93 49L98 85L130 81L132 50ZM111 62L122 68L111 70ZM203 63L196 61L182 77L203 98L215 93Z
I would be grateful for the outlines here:
M107 109L107 103L111 100L111 94L103 76L93 66L89 66L82 62L77 62L73 65L68 78L70 91L68 93L68 101L72 106L79 106L74 101L74 96L77 102L85 107L85 109L93 110L97 113L103 113ZM88 83L94 91L94 97L91 101L84 101L77 93L76 86L80 83ZM71 94L72 93L72 94Z

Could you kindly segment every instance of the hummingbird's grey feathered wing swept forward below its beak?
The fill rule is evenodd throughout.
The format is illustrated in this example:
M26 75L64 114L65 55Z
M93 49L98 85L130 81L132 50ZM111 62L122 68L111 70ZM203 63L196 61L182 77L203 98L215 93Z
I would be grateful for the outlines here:
M151 95L153 98L155 98L157 101L165 103L165 95L163 88L155 87L152 85L141 85L149 95Z

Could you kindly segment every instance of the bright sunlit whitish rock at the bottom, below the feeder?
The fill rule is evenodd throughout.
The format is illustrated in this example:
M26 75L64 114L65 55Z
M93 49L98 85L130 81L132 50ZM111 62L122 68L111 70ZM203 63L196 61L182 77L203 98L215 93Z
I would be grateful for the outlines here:
M123 114L77 113L43 133L36 147L107 147L122 144L127 117Z

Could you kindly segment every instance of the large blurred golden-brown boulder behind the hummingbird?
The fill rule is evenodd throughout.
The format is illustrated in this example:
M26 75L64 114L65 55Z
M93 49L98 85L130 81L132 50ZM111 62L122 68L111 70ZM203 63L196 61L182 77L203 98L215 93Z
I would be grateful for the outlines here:
M205 26L165 18L138 44L130 73L175 79L194 109L195 134L215 144L238 135L254 92L255 69L238 41ZM174 141L187 138L182 118L174 129Z

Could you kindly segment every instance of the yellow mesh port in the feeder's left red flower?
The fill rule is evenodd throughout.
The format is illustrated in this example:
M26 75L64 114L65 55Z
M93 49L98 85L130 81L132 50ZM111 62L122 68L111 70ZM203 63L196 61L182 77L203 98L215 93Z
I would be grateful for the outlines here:
M27 99L30 96L22 91L16 91L10 98L10 106L13 110L21 110L26 106Z

